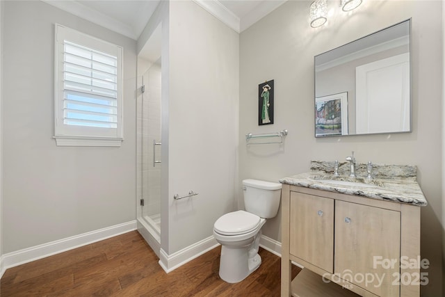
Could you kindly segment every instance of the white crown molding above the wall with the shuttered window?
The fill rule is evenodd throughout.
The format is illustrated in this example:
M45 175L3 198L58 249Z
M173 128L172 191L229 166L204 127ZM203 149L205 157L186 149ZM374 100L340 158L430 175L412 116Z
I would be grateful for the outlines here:
M77 1L60 1L60 0L42 0L44 3L48 3L51 6L65 10L67 13L72 13L77 17L81 17L99 26L103 26L106 29L120 33L133 40L138 39L138 35L131 26L119 22L108 15L98 12L97 10L88 8Z

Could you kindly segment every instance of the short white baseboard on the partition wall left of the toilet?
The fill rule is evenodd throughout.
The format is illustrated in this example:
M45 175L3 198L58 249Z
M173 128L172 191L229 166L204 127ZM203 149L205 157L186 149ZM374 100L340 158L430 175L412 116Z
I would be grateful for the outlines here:
M166 273L169 273L174 271L179 266L190 262L205 252L208 252L212 248L216 248L216 246L219 246L219 243L213 236L209 236L207 239L203 239L202 241L198 241L187 248L183 248L182 250L172 253L172 255L168 255L161 248L159 252L159 265L161 265Z

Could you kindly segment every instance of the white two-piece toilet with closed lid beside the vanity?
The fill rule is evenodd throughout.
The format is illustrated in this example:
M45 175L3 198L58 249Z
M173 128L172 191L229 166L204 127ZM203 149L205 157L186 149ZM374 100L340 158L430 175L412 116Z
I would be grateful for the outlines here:
M241 282L261 264L258 255L261 227L278 213L282 185L257 179L243 180L245 211L229 212L213 225L213 236L221 244L220 278Z

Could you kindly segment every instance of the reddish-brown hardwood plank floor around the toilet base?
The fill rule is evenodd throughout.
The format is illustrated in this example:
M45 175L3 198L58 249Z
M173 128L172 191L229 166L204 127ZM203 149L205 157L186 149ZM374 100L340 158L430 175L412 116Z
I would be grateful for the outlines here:
M167 274L133 231L9 268L0 296L280 296L280 257L259 254L261 266L237 284L218 275L220 247Z

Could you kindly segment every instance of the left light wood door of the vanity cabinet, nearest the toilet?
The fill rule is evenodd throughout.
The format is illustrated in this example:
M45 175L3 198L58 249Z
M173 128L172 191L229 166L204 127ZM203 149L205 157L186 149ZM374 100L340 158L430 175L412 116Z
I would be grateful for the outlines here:
M334 200L291 192L291 254L332 273Z

